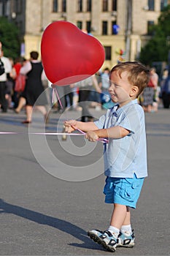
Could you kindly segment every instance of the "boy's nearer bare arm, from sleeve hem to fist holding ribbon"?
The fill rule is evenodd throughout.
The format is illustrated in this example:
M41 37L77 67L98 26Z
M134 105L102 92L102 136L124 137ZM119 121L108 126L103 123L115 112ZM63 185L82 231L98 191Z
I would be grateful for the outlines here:
M110 127L108 129L97 129L93 131L87 132L85 138L90 141L96 141L98 138L112 138L112 139L120 139L129 134L129 130L123 127Z

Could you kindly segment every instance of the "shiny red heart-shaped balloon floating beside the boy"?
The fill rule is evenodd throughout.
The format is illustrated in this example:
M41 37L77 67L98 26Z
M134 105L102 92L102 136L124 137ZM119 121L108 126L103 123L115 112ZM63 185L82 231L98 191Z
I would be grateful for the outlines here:
M51 83L65 86L95 74L104 63L104 47L68 21L55 21L45 29L42 64Z

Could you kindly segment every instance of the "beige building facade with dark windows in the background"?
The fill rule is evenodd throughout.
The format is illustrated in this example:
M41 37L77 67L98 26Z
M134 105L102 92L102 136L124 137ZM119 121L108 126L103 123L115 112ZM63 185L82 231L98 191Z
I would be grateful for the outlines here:
M152 36L168 0L0 0L0 15L7 15L23 34L22 55L40 51L42 33L50 23L67 20L104 45L104 66L134 61Z

